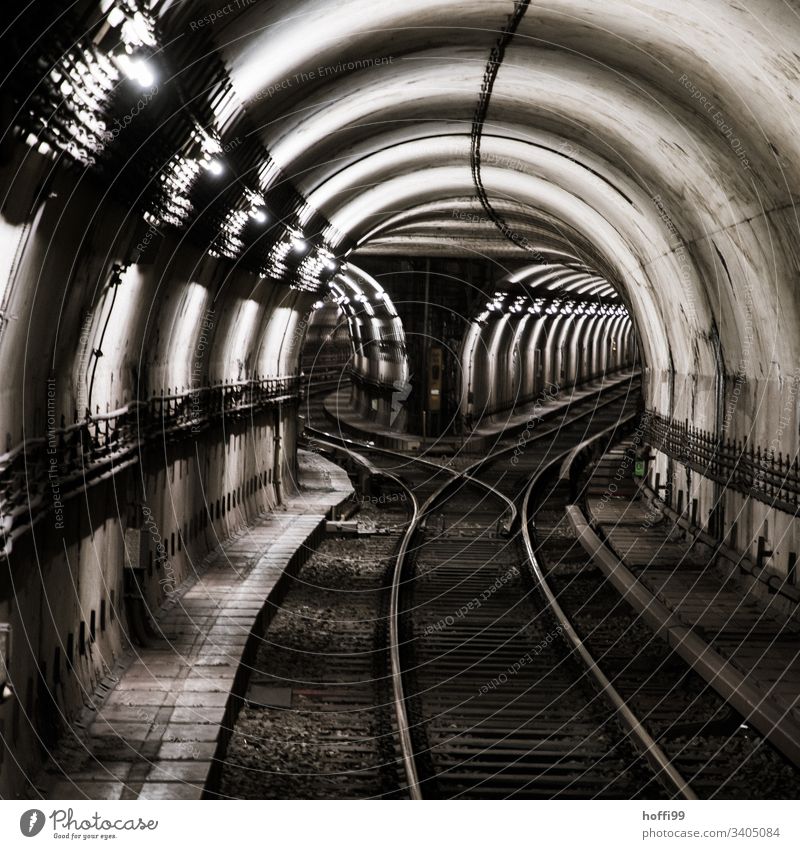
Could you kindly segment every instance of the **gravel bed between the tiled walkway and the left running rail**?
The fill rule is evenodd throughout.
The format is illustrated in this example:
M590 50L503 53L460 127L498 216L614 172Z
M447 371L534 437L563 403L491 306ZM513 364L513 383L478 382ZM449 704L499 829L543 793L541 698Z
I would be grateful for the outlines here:
M395 763L383 625L386 576L414 505L395 492L362 494L367 532L331 535L291 581L254 664L219 795L397 794L402 767Z

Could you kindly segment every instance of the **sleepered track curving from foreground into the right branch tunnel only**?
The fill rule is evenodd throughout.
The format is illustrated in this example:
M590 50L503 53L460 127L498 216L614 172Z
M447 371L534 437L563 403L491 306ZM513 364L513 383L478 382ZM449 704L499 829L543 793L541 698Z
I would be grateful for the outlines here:
M498 447L409 531L399 615L418 795L691 796L643 729L609 714L607 682L598 687L581 666L568 623L530 580L522 536L507 532L521 484L564 446L613 425L621 399L577 405L522 451L519 440Z

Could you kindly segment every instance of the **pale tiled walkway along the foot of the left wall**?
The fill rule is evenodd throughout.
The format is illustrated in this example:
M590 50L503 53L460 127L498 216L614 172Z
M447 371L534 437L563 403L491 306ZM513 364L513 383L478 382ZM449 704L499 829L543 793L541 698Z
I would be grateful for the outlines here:
M198 799L256 617L296 551L334 505L347 475L301 452L301 491L223 544L197 582L157 625L164 639L140 649L84 728L37 782L50 799ZM241 564L246 563L246 568ZM232 566L234 568L232 568Z

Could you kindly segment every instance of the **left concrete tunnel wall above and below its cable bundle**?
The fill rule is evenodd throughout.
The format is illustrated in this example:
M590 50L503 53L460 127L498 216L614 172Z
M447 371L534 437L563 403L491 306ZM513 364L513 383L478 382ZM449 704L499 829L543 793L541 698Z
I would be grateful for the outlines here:
M47 163L38 164L43 172ZM29 158L28 179L15 181L2 210L7 451L55 439L89 405L102 415L136 399L297 374L310 295L225 269L171 238L157 237L145 261L128 265L138 237L125 211L87 226L78 211L97 203L89 186L62 175L42 200L31 166ZM107 287L115 263L126 265L116 293ZM102 349L96 369L93 349ZM17 745L0 765L0 795L19 788L120 657L124 635L136 633L123 573L138 546L145 604L155 610L220 540L292 490L296 415L288 403L231 416L224 432L151 441L138 462L6 540L0 621L13 628L17 694L0 707L0 725ZM54 471L52 485L66 494L67 470Z

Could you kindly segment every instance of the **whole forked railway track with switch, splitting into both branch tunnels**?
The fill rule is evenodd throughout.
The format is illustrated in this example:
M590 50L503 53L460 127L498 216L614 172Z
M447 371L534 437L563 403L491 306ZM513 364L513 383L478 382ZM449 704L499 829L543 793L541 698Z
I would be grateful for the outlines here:
M610 438L635 397L635 387L620 387L585 399L501 436L473 462L432 462L307 429L407 496L408 524L391 540L392 557L382 554L392 563L371 695L361 692L358 707L333 705L381 717L370 726L381 743L377 772L363 773L359 795L693 798L724 783L731 762L687 748L681 735L697 729L673 715L702 705L709 745L736 718L646 629L626 653L619 633L587 627L599 610L580 604L591 575L565 554L570 493L567 481L553 483L554 470L587 437ZM618 597L596 587L592 596L604 622L636 633ZM648 689L651 662L668 677L649 675Z

